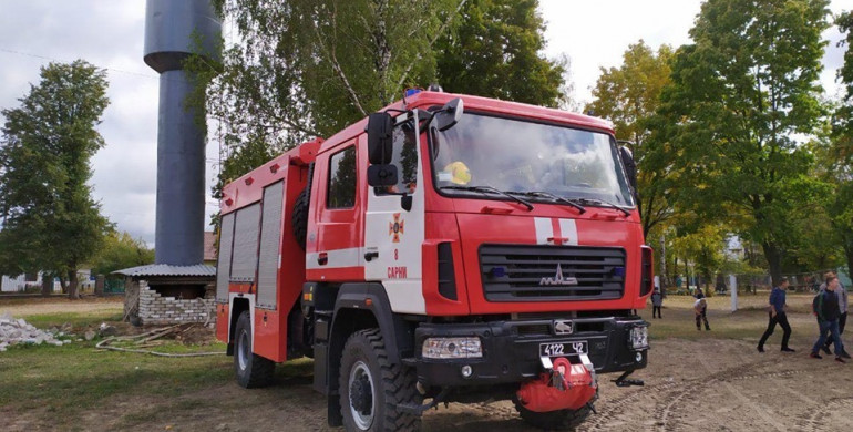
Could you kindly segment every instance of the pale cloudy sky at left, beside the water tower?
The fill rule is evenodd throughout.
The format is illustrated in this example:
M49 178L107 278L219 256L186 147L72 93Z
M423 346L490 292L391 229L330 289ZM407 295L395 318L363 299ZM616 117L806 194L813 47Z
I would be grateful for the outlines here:
M0 107L18 106L51 61L83 59L106 69L111 103L97 126L106 146L92 160L93 197L117 229L154 245L160 79L142 60L144 20L138 0L4 2ZM209 160L216 155L208 148ZM209 191L216 173L206 165Z

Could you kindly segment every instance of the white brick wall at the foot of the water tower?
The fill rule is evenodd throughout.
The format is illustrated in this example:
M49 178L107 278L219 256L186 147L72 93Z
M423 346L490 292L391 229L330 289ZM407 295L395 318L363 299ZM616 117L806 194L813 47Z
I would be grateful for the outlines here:
M167 325L182 322L216 322L214 291L207 289L204 297L176 299L162 297L148 288L145 280L140 280L140 318L146 325Z

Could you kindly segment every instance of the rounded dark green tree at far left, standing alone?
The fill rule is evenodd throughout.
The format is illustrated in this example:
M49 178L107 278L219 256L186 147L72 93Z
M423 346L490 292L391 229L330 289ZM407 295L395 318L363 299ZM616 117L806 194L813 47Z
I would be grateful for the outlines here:
M63 286L68 277L72 299L79 265L110 228L86 184L90 160L104 146L95 126L109 104L106 86L106 73L85 61L50 63L20 107L2 110L0 270L44 270Z

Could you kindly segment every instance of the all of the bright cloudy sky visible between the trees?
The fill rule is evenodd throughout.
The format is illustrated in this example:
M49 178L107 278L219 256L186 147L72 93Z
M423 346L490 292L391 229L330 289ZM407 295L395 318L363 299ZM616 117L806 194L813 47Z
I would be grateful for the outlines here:
M618 66L629 44L643 39L657 48L689 43L698 0L541 0L547 23L545 54L572 62L574 97L589 102L600 68ZM144 0L0 0L0 107L19 105L39 68L84 59L107 72L110 106L97 126L106 146L92 160L93 195L119 230L154 246L157 74L142 60ZM833 0L833 13L852 10L853 0ZM840 34L824 55L821 82L831 94L843 51ZM207 145L207 188L218 169L218 148ZM217 210L206 198L206 214Z

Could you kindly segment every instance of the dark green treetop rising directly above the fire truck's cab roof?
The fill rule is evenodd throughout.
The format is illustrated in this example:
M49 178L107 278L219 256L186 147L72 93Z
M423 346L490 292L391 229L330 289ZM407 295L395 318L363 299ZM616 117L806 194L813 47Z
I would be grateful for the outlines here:
M548 60L538 0L469 0L439 40L438 79L453 93L557 106L567 60Z

